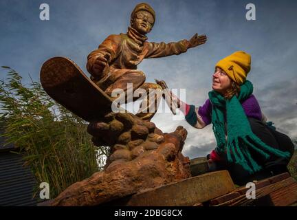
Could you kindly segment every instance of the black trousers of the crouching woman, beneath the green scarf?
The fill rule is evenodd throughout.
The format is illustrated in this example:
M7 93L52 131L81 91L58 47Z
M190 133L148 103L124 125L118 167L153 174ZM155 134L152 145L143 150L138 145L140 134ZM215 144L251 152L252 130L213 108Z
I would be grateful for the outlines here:
M255 118L248 118L250 122L251 129L253 133L259 137L265 144L272 146L273 148L279 149L281 151L289 151L291 157L294 153L294 144L292 140L285 134L275 131L270 126L267 126L260 120ZM271 155L269 159L265 159L259 153L250 150L252 158L261 165L263 169L253 175L250 175L247 170L243 169L239 164L229 164L226 162L226 158L222 162L217 162L217 170L227 169L234 181L234 184L243 185L248 181L253 181L255 179L264 179L271 177L273 175L278 175L279 173L287 172L287 164L289 159L283 157L277 157Z

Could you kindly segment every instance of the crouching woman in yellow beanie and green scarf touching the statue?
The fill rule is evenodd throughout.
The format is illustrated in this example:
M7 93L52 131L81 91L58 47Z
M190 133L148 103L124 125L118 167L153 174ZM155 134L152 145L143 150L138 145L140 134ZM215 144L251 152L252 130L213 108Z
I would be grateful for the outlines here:
M227 169L234 183L243 185L287 171L294 144L268 126L246 80L250 54L239 51L223 58L212 75L212 91L203 106L179 102L186 121L197 129L212 123L217 147L208 155L210 170Z

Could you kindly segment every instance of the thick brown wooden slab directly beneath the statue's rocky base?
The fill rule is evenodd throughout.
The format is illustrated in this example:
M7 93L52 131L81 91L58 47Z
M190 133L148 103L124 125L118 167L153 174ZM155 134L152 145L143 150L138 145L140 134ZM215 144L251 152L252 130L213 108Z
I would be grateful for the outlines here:
M227 170L206 173L132 195L125 206L193 206L235 189Z

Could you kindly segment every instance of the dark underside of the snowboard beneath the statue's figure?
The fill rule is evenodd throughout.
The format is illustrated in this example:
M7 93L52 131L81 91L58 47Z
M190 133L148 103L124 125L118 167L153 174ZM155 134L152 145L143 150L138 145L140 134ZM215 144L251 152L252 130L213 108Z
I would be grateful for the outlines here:
M69 58L45 61L40 78L51 98L87 122L100 120L111 112L111 98Z

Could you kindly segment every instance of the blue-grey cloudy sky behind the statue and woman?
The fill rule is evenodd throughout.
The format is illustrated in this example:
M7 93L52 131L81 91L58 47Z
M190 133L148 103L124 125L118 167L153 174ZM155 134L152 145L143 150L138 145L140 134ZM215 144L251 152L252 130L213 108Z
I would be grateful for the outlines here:
M126 33L134 6L141 1L0 1L0 65L29 81L39 80L44 61L67 56L85 69L87 55L109 35ZM157 14L148 41L170 42L206 34L208 42L179 56L144 60L138 69L148 82L166 80L186 89L186 102L197 106L208 98L214 65L236 50L252 56L248 79L254 84L268 120L278 131L297 137L297 1L146 0ZM39 5L50 5L50 21L39 19ZM256 21L247 21L245 5L254 3ZM5 74L5 70L1 70ZM184 155L206 155L215 147L211 125L197 130L170 113L152 120L164 132L182 125L188 130Z

